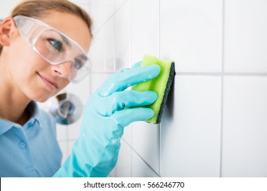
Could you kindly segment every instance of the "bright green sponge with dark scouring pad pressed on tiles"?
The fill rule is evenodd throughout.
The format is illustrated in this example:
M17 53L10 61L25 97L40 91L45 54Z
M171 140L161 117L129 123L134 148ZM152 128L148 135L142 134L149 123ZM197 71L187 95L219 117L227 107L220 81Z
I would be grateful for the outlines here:
M141 67L152 64L160 65L160 74L152 80L133 85L131 89L136 91L150 90L157 93L157 100L153 104L145 106L147 108L152 108L155 112L155 115L151 117L151 119L148 119L147 122L156 124L162 121L162 114L166 106L170 86L175 76L175 63L170 60L162 61L151 55L144 55Z

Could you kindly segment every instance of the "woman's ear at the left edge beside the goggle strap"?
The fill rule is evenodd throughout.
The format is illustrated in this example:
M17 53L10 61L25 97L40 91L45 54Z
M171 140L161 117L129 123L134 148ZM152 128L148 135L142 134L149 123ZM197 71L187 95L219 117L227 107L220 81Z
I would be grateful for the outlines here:
M10 45L10 38L12 33L12 28L15 26L12 17L5 18L0 25L0 44L2 46Z

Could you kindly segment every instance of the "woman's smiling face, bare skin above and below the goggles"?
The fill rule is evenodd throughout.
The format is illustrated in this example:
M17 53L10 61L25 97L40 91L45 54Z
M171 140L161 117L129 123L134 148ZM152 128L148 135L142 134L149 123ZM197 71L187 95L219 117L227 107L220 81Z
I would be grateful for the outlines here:
M84 20L62 12L51 12L40 20L66 34L88 52L91 38ZM70 83L70 62L52 65L44 61L21 35L10 43L8 61L14 83L30 100L44 102Z

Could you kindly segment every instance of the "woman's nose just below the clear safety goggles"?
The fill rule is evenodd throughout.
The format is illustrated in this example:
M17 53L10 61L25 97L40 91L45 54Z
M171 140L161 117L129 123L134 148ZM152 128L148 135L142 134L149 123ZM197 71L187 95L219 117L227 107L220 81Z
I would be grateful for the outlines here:
M71 61L65 61L64 63L52 65L53 74L60 76L62 78L71 77Z

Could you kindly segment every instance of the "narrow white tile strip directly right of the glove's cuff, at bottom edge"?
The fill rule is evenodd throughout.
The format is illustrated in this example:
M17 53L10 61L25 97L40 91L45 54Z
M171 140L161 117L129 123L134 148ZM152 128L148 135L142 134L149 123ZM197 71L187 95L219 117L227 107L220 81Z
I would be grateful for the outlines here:
M115 166L116 177L131 177L131 147L125 141L120 141L118 162Z

